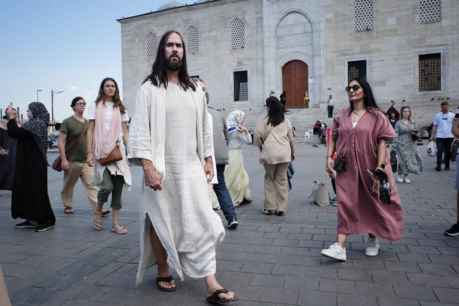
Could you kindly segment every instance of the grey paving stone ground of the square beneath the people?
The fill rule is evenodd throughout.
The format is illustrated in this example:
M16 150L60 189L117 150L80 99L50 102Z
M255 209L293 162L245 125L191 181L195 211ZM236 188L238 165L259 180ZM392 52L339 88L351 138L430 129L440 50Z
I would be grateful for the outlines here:
M453 190L456 164L436 172L424 155L422 175L398 184L405 230L401 242L379 239L380 252L366 257L365 235L352 235L347 261L320 256L335 242L337 208L319 207L307 198L314 180L326 181L326 148L297 146L293 189L284 216L261 213L264 168L257 148L244 147L253 202L238 207L240 226L226 229L217 251L217 278L236 292L238 306L275 305L418 305L459 303L459 237L444 236L456 218ZM49 154L53 161L57 154ZM203 279L176 280L177 290L156 287L156 267L135 286L139 261L138 199L141 170L131 168L132 192L123 191L120 223L129 234L92 227L92 213L80 183L74 214L64 214L60 199L63 174L48 170L48 189L56 226L47 232L16 229L10 214L11 193L0 191L0 262L13 305L206 305ZM352 182L349 182L352 184ZM25 191L24 191L25 192ZM218 214L222 217L221 212ZM175 277L176 274L173 273Z

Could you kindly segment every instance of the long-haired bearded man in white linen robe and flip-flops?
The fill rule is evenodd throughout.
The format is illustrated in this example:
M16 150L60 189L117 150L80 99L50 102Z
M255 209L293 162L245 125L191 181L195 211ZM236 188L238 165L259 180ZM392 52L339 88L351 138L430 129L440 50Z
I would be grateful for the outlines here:
M158 264L157 285L175 290L169 266L184 279L205 277L208 301L238 300L215 277L215 254L224 238L207 183L214 176L206 98L186 69L178 32L161 38L151 74L137 92L128 157L141 164L140 261L137 284Z

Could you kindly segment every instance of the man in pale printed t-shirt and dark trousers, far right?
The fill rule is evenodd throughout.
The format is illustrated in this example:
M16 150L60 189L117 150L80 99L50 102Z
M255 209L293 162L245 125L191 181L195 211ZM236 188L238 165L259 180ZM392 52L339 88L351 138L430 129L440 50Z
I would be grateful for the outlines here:
M433 119L432 136L430 136L430 141L437 142L437 167L435 167L437 171L442 171L443 152L445 152L445 170L449 170L451 144L454 140L454 135L451 133L454 114L449 111L448 101L443 101L441 107L442 111Z

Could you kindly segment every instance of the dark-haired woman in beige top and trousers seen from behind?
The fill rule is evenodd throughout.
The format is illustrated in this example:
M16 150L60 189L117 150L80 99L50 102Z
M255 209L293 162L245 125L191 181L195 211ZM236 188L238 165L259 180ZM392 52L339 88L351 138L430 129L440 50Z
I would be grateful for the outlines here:
M266 171L263 212L271 215L276 210L280 216L287 210L287 169L295 159L295 131L276 97L267 98L265 108L268 115L258 122L253 144L260 148L259 161Z

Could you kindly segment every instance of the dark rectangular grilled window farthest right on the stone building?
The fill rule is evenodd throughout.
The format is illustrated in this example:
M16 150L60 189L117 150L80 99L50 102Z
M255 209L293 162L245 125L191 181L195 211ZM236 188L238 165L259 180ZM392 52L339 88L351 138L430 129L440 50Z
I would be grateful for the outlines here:
M441 53L419 55L419 91L442 90Z

